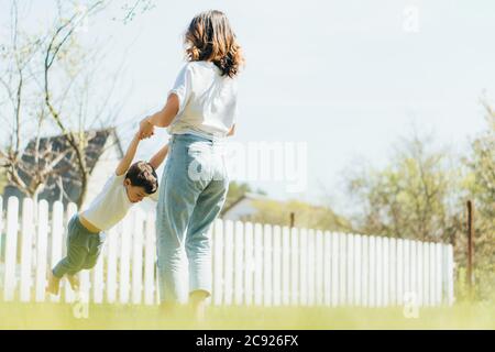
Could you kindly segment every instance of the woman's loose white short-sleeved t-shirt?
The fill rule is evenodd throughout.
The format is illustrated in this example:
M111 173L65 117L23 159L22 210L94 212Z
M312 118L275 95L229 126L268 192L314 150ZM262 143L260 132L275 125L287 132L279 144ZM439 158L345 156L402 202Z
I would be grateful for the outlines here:
M168 127L169 134L223 138L237 120L237 78L221 76L212 62L187 63L169 91L173 92L178 97L179 110Z

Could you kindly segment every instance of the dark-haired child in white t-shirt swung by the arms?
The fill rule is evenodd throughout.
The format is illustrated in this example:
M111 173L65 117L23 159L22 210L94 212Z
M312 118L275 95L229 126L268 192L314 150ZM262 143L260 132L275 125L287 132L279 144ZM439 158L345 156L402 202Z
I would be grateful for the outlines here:
M122 220L131 207L144 197L155 195L158 177L155 169L168 153L168 144L160 150L152 160L138 162L131 166L141 138L136 133L119 163L116 173L105 185L101 193L89 208L75 215L68 223L67 256L58 262L48 274L50 294L58 295L59 283L64 275L74 290L79 287L76 274L81 270L92 268L101 251L102 231Z

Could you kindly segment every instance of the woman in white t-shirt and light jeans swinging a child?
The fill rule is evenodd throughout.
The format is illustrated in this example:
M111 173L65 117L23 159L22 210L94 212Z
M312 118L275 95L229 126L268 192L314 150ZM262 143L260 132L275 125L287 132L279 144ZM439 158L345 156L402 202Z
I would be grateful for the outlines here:
M144 119L143 135L154 127L172 135L157 206L156 239L161 302L178 299L180 248L189 262L189 301L201 319L211 295L208 230L229 188L222 144L234 133L237 76L243 64L229 20L220 11L196 15L185 35L188 63L169 91L164 109Z

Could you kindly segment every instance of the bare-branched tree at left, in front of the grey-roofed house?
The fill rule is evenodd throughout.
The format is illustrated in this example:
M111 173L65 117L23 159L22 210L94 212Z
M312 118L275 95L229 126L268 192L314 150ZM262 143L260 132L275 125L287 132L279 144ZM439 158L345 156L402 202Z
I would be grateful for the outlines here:
M109 107L117 80L98 69L105 57L101 47L88 50L79 43L81 25L107 2L87 1L82 10L73 2L55 3L52 25L34 34L21 28L18 2L11 3L10 36L1 43L0 107L8 142L0 145L0 165L10 184L36 198L48 178L63 176L56 166L69 157L77 170L73 182L81 189L76 199L80 207L89 177L86 146L91 135L86 131L108 127L117 117L118 108L112 112ZM95 87L105 81L111 82L107 94L97 95ZM40 146L50 133L64 136L64 153ZM28 183L22 173L30 175Z

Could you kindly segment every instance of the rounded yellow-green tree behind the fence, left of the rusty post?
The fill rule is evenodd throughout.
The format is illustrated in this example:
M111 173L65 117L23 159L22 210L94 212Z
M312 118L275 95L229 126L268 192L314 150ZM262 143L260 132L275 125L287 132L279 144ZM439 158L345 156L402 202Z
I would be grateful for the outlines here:
M355 227L363 233L451 242L459 232L455 172L449 155L415 135L396 150L383 169L364 168L346 180L358 201Z

